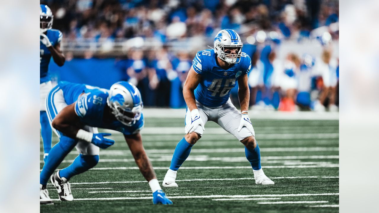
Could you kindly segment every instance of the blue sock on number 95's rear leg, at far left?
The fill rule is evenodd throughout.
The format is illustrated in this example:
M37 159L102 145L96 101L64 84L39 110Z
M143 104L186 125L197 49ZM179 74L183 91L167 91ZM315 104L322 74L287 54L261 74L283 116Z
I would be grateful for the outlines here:
M46 185L50 175L61 164L64 157L75 147L77 141L72 138L62 136L60 141L51 148L49 158L44 164L41 173L39 174L39 183Z

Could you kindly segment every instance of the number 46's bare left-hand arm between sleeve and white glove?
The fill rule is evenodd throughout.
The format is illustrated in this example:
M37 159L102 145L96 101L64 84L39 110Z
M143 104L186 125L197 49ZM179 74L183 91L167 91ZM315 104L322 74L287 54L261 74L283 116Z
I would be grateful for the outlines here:
M197 109L194 90L200 81L201 75L197 74L191 66L183 86L183 97L190 111Z

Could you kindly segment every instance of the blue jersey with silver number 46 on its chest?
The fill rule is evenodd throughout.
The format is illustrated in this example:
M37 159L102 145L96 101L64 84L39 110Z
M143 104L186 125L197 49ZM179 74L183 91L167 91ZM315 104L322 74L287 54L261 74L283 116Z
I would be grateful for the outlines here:
M235 87L238 78L249 73L251 68L251 59L244 52L240 62L227 70L217 65L216 57L213 49L207 49L197 52L192 61L193 69L202 77L194 91L195 98L202 105L212 108L228 101L230 90Z

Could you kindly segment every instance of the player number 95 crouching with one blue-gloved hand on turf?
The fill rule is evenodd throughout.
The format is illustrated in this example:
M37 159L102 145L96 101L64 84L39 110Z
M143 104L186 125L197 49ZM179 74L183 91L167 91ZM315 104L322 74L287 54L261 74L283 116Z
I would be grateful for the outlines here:
M60 81L46 98L49 122L59 137L50 150L40 174L40 203L52 203L46 184L50 178L60 200L74 200L68 180L91 169L99 162L100 148L106 149L114 140L110 133L98 133L97 127L124 134L139 170L149 182L153 204L172 204L163 193L149 158L142 145L139 131L144 126L143 103L138 89L129 82L114 83L110 90L84 84ZM53 174L64 157L74 148L78 157L68 167Z

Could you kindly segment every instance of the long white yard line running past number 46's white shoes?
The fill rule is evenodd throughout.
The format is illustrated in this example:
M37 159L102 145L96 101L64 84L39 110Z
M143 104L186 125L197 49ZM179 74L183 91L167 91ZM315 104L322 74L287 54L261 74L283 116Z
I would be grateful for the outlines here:
M298 166L262 166L266 169L285 169L285 168L336 168L339 164L322 164L322 165L298 165ZM139 169L138 167L99 167L92 168L90 170L128 170L128 169ZM153 167L153 169L165 169L168 167ZM251 169L251 166L188 166L180 167L180 169Z

